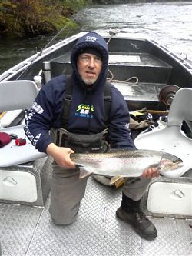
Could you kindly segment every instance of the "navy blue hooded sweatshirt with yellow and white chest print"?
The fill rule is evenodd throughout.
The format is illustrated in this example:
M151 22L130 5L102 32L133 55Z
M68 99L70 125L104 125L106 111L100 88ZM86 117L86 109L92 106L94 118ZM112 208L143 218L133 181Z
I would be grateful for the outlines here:
M77 56L81 49L97 48L102 56L102 69L98 80L86 88L77 69ZM80 38L71 52L72 101L68 118L68 131L91 135L104 130L104 85L108 73L108 45L100 35L90 32ZM46 152L52 142L50 128L61 128L61 111L65 96L66 76L48 81L38 93L25 120L25 135L38 151ZM134 149L128 131L129 111L124 97L111 85L109 140L111 148Z

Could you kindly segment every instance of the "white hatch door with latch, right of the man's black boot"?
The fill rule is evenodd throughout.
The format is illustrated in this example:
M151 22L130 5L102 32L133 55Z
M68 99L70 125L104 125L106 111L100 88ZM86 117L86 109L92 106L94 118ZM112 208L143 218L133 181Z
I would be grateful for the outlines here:
M148 189L147 210L154 215L192 217L192 184L152 183Z

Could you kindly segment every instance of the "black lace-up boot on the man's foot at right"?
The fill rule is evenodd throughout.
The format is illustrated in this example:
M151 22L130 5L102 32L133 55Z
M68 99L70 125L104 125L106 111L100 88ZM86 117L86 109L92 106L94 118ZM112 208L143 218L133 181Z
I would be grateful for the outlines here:
M127 196L123 194L121 207L116 211L116 215L121 219L121 221L130 224L141 238L153 240L157 237L157 229L141 211L140 203L141 199L139 201L133 201L131 198L127 198Z

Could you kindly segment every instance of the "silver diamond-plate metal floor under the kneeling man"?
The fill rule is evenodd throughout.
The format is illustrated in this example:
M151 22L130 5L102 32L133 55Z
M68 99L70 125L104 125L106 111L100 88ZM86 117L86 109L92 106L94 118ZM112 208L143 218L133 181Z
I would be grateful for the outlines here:
M157 227L154 241L140 238L115 217L121 188L89 178L77 220L53 224L45 208L0 204L2 255L192 255L192 220L149 217Z

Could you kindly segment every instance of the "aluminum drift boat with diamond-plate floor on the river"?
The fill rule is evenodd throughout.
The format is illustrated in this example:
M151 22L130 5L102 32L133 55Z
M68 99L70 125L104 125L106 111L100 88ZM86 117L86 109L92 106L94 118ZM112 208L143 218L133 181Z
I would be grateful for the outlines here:
M40 76L41 85L35 81L41 87L51 77L69 74L71 48L84 33L31 56L0 75L0 81L34 81ZM148 113L164 115L178 88L192 88L192 65L185 56L174 55L157 42L135 35L100 33L108 42L108 78L124 95L130 111L147 108ZM14 115L2 113L2 129L21 125L23 118L22 110ZM190 120L185 120L184 132L190 136ZM158 230L153 246L115 218L121 188L89 178L77 221L58 227L48 214L51 159L0 168L0 182L2 255L191 254L191 171L180 178L154 178L144 195L143 211Z

